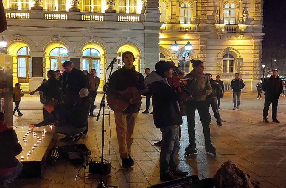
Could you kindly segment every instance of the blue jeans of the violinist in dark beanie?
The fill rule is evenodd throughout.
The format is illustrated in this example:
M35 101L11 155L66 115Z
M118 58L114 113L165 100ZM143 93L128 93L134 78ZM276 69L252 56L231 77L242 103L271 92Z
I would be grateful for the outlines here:
M179 145L180 125L171 125L160 128L163 143L160 152L160 174L177 170L178 162L175 158L175 151Z

